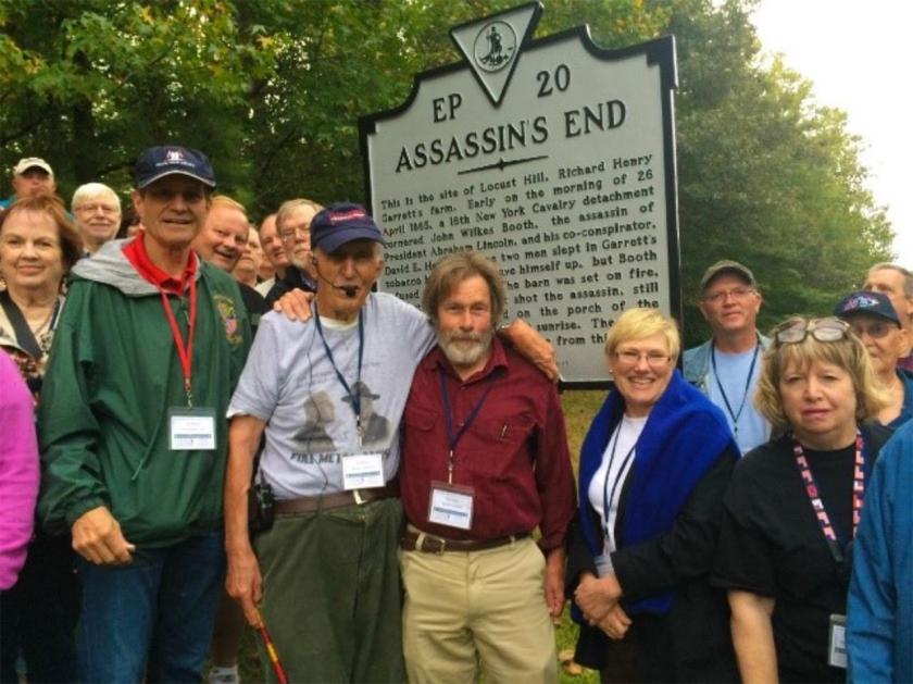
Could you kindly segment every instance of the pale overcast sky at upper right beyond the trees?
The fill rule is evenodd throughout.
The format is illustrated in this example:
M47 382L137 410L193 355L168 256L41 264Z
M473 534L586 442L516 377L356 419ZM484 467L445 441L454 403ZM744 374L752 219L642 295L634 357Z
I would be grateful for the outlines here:
M862 136L870 189L888 208L897 260L913 268L913 117L909 0L761 0L754 24L768 52L814 84L822 104L847 112Z

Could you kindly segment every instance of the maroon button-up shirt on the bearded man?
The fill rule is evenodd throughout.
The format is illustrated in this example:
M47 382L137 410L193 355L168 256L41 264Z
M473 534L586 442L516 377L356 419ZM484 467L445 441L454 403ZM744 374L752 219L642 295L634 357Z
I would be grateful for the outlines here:
M453 484L474 488L472 530L428 522L432 481L447 482L449 439L439 370L454 433L489 386L475 421L454 449ZM497 338L485 369L466 381L438 347L418 365L405 405L400 488L411 524L451 539L485 540L531 532L545 551L563 546L574 517L574 475L558 391Z

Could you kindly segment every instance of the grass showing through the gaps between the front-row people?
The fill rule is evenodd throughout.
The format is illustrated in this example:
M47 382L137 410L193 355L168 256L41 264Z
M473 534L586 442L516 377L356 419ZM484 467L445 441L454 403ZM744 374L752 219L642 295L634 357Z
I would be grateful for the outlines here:
M574 463L574 472L577 471L577 456L580 452L580 443L584 440L587 427L589 426L592 416L596 414L599 406L605 396L604 391L566 391L561 397L561 403L564 408L564 418L567 423L567 442L571 448L571 459ZM241 641L241 652L239 658L239 669L241 681L243 682L260 682L262 681L262 671L260 669L260 660L257 654L257 633L252 630L245 632ZM574 644L577 641L577 626L571 622L568 610L565 609L564 617L560 625L555 626L555 645L558 652L571 649L573 652ZM280 655L282 657L282 655ZM562 684L591 684L599 682L599 676L592 670L583 670L579 675L570 674L564 667L559 666L559 682Z

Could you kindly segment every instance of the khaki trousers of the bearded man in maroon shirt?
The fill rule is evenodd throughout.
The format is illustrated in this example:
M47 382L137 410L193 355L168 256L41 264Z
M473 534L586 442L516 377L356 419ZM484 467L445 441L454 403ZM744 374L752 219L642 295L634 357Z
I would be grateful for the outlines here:
M403 654L410 684L553 683L554 625L546 562L533 539L484 551L400 558Z

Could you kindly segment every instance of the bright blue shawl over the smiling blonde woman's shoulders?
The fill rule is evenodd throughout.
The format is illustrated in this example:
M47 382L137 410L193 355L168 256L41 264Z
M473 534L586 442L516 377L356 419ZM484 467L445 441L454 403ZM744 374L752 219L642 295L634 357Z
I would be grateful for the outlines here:
M587 493L624 409L624 398L613 389L596 414L580 449L578 515L593 556L602 554L602 531L593 525ZM695 486L727 447L734 453L739 452L723 412L674 371L637 440L618 548L668 532ZM674 592L665 592L623 604L631 613L664 614L672 608L673 598Z

